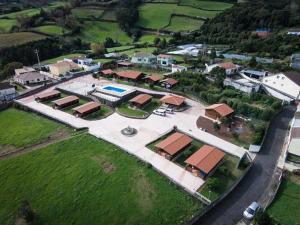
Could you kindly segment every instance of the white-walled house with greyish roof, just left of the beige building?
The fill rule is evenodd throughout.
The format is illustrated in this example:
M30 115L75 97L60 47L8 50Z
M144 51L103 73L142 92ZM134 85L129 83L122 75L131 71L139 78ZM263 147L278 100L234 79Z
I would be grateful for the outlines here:
M50 80L48 76L38 71L18 73L18 75L16 74L13 79L16 83L23 85L45 83Z

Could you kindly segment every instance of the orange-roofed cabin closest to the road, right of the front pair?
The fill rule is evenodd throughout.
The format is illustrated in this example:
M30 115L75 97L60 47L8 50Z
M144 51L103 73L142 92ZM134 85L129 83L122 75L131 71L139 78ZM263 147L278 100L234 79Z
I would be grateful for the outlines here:
M205 178L217 168L224 156L225 153L216 147L203 145L184 162L193 174Z

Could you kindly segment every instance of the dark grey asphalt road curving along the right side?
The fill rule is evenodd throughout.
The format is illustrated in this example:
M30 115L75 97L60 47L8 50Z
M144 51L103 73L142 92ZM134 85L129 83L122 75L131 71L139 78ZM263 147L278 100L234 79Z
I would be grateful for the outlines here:
M245 208L260 199L271 181L294 112L295 107L287 106L273 118L261 151L248 174L226 198L201 217L196 225L235 225L242 218Z

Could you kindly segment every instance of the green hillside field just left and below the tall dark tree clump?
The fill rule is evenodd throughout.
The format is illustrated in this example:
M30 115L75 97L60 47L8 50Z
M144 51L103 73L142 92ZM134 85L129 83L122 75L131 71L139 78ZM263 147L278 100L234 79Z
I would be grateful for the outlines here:
M119 28L117 23L85 22L80 37L87 42L104 42L107 37L122 43L132 43L132 39Z

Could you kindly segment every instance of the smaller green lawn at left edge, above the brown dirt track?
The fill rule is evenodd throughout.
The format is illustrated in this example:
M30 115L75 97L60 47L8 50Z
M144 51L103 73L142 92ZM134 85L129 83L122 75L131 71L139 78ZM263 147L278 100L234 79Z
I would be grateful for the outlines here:
M37 144L58 129L67 128L34 113L15 108L0 112L0 144L4 146L11 145L19 148Z

